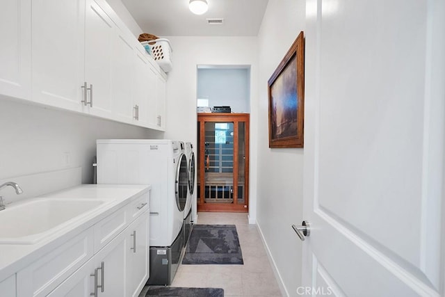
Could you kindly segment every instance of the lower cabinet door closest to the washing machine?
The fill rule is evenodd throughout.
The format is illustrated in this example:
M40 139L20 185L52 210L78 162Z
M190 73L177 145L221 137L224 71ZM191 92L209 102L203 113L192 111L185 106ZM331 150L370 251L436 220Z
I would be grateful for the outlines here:
M127 275L128 296L138 296L149 278L149 212L145 211L127 229L129 238Z

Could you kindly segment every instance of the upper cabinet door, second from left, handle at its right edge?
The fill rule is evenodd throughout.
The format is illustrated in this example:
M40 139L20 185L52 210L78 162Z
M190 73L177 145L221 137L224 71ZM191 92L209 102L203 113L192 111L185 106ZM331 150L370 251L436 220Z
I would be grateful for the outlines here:
M33 2L35 102L82 111L84 17L85 0Z

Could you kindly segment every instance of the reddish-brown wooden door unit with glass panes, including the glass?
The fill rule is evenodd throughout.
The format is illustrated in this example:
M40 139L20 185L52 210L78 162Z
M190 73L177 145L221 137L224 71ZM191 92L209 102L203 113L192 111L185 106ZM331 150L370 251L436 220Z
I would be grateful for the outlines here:
M198 211L248 211L249 114L198 113Z

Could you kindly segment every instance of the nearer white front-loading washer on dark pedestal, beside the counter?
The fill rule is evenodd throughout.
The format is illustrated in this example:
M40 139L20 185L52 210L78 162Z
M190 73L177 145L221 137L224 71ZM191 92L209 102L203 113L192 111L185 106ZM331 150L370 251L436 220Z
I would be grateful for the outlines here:
M188 166L184 143L97 140L98 184L150 184L149 284L171 284L184 249Z

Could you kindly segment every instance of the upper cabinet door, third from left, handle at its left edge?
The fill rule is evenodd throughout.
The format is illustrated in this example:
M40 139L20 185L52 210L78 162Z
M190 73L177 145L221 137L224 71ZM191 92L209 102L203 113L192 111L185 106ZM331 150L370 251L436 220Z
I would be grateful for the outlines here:
M94 0L86 0L85 80L88 88L89 113L102 118L111 115L111 73L116 26Z

